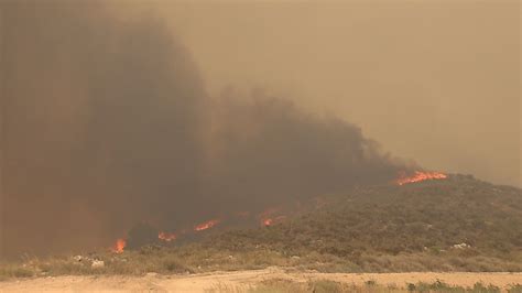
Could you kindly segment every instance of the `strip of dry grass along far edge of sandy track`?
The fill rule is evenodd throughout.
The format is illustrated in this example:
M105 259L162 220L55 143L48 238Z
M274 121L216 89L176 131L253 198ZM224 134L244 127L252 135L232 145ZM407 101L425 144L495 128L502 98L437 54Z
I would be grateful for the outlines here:
M522 271L520 256L512 261L482 256L459 256L455 252L361 254L339 257L317 252L291 254L259 248L252 251L217 250L199 245L178 248L144 247L121 254L93 253L81 260L74 257L26 258L0 264L0 280L45 275L122 274L143 275L204 273L213 271L255 270L280 267L289 271L317 272L429 272L429 271ZM99 260L104 267L94 268Z

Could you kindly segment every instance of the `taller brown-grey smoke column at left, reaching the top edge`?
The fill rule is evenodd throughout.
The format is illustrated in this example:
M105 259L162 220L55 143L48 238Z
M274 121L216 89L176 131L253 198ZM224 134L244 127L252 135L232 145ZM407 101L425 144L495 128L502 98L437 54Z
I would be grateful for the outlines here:
M90 2L2 11L8 252L94 247L197 200L204 87L161 22Z

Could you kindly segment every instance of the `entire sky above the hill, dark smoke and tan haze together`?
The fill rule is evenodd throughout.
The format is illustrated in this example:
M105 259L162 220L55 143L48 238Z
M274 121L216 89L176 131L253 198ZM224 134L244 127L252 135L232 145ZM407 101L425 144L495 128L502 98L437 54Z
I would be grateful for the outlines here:
M388 182L410 159L520 185L518 8L3 2L3 253Z

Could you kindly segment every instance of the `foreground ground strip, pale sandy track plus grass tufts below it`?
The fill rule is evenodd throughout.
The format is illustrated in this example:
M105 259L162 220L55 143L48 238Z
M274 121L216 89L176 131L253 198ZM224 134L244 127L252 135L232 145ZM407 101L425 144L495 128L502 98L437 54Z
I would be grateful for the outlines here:
M519 284L519 285L516 285ZM522 273L319 273L279 268L188 275L47 276L0 282L0 292L521 292ZM475 291L474 291L475 289Z

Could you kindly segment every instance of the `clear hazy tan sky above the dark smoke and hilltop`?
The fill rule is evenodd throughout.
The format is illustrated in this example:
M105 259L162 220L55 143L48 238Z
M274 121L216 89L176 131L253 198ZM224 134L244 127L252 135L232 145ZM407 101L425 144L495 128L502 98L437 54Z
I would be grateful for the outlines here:
M156 3L211 94L264 87L393 154L521 186L519 1Z

